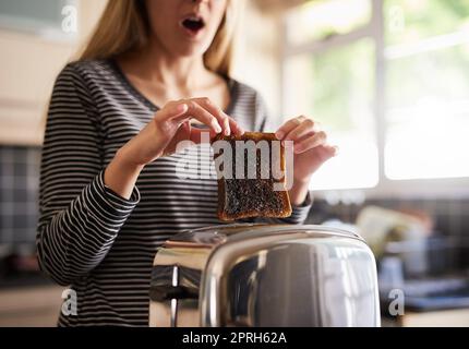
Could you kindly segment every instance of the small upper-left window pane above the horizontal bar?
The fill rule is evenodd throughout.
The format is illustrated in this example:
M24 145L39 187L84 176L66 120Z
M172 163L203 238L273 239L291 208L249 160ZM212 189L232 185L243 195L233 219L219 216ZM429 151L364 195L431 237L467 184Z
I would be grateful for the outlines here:
M370 0L309 1L288 12L288 43L299 45L345 34L366 24L370 17Z

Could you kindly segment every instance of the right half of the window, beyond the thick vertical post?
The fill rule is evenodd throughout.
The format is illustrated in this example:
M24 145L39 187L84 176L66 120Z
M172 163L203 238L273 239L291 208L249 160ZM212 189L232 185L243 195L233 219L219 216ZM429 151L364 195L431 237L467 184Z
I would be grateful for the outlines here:
M385 1L389 179L469 176L469 1Z

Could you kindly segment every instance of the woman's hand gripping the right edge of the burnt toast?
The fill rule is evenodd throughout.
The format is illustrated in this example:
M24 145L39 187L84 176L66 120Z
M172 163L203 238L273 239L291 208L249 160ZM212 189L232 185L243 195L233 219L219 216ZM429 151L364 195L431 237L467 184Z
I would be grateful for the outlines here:
M327 144L327 134L317 122L304 116L288 120L275 134L280 141L293 142L293 186L309 183L311 176L337 154L338 148Z

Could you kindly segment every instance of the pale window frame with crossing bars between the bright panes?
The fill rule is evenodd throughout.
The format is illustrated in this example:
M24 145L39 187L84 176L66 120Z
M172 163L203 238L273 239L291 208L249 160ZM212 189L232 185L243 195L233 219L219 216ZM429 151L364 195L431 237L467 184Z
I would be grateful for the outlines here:
M363 38L370 38L375 46L374 58L374 101L373 113L375 118L375 139L378 155L378 182L373 188L364 189L337 189L337 190L315 190L314 193L324 196L325 193L334 191L337 193L347 193L350 191L363 191L366 197L468 197L469 196L469 177L462 178L435 178L435 179L406 179L393 180L385 174L385 143L386 143L386 64L393 50L402 48L402 51L410 49L408 45L385 47L384 31L384 1L370 0L371 19L368 24L360 26L346 34L337 34L325 39L310 40L301 45L290 45L287 38L287 21L281 19L280 35L280 111L285 115L285 82L286 64L290 57L298 55L314 55L332 48L344 47L353 44ZM455 34L455 33L452 33ZM449 34L449 35L452 35ZM449 36L448 34L442 36ZM433 36L422 39L420 43L437 38ZM469 43L469 38L467 39ZM460 43L462 44L462 43ZM456 44L458 45L458 44ZM431 50L431 49L430 49ZM398 51L398 50L397 50ZM390 52L390 53L389 53ZM468 155L469 160L469 155Z

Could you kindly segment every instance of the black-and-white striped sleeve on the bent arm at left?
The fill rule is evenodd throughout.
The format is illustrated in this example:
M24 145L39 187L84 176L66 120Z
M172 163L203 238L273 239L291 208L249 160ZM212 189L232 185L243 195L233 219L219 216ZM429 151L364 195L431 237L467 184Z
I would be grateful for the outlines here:
M39 188L37 253L60 285L95 268L140 201L104 184L101 130L84 77L72 64L58 76L49 105Z

